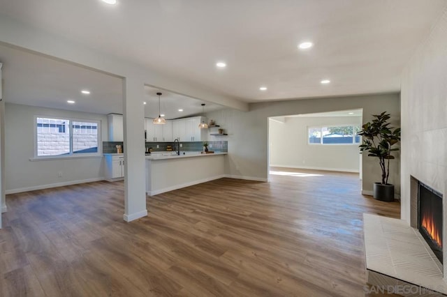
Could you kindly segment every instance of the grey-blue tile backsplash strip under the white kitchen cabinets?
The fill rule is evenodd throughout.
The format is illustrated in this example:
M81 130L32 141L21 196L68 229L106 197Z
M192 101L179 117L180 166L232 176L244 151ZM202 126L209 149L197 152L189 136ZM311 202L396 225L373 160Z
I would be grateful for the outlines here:
M204 142L180 142L182 147L180 151L202 151ZM207 142L210 151L228 152L228 141ZM103 142L103 153L116 153L117 145L121 145L124 152L123 142ZM157 148L157 145L159 146ZM174 142L146 142L146 148L152 148L152 151L166 151L166 146L174 147Z

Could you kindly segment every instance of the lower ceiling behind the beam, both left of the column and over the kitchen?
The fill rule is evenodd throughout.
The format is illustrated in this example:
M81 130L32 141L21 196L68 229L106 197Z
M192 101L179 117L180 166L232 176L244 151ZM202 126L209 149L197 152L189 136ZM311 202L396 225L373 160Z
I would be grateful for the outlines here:
M6 102L35 105L56 109L69 109L98 114L122 114L122 79L97 71L50 59L13 47L0 45L0 61L3 62L3 97ZM81 93L83 89L89 95ZM145 116L154 118L161 112L166 119L191 116L223 108L173 92L145 86ZM74 100L74 105L66 101ZM143 105L143 104L142 104ZM178 112L184 109L184 112Z

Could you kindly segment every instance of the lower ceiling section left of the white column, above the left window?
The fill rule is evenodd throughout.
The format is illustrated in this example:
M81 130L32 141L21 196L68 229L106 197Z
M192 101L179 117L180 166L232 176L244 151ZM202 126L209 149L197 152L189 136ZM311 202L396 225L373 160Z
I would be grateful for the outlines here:
M122 113L122 79L0 45L6 102L99 114ZM87 89L90 95L83 95ZM67 100L74 100L68 105Z

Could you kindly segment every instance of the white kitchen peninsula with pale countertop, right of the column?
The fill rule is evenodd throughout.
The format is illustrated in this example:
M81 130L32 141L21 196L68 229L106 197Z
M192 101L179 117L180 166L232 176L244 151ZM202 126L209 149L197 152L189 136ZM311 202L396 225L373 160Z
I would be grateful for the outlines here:
M205 183L225 176L227 153L154 153L146 156L149 196Z

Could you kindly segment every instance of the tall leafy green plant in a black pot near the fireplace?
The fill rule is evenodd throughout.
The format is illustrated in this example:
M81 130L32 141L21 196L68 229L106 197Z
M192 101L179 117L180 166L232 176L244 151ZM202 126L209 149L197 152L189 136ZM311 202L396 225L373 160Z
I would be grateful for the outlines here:
M359 146L360 153L366 151L370 157L379 159L379 165L382 169L381 183L374 183L374 198L381 201L394 201L394 185L388 183L390 176L390 160L395 157L394 151L400 148L393 148L400 142L400 128L390 127L388 120L390 114L382 112L374 114L372 122L362 125L362 130L358 135L363 137L363 143Z

